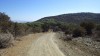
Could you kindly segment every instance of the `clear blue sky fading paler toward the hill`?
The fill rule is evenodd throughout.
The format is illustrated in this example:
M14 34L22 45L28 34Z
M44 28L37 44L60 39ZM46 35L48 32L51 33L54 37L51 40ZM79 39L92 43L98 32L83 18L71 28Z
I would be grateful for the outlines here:
M0 0L0 12L13 21L36 21L65 13L100 13L100 0Z

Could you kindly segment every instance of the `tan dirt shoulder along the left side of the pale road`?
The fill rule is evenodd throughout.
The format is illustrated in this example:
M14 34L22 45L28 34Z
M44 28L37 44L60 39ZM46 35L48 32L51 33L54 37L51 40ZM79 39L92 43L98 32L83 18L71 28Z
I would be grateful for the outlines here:
M40 35L40 34L39 34ZM14 42L14 46L1 49L0 55L1 56L24 56L26 55L31 43L35 40L37 34L30 34L27 36L22 37Z

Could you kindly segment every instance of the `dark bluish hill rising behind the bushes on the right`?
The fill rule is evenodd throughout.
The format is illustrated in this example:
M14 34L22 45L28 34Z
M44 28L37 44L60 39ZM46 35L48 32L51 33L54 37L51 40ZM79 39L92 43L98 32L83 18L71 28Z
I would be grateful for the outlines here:
M83 21L92 21L95 23L100 23L100 13L69 13L57 16L44 17L38 21L49 21L55 20L59 22L66 23L80 23Z

